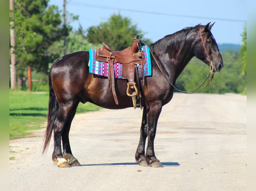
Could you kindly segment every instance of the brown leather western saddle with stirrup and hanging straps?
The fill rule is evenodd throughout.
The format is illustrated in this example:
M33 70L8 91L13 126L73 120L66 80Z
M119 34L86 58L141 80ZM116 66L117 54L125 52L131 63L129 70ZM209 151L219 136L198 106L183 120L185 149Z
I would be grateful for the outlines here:
M103 43L103 48L97 48L95 60L99 62L108 62L108 87L112 89L112 93L116 104L118 99L115 91L115 80L114 80L114 63L123 64L122 77L128 80L126 94L132 97L133 106L141 107L140 104L140 89L139 89L139 78L144 78L144 54L140 49L139 35L133 38L132 46L122 51L112 51L107 45ZM138 72L138 67L141 64L142 72ZM130 94L130 90L132 93Z

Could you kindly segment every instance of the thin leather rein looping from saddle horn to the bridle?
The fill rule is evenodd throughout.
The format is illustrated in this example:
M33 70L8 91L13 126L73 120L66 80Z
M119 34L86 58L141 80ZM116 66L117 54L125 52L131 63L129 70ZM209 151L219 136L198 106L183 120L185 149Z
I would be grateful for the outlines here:
M200 28L200 29L201 29L201 28ZM199 32L200 32L202 44L203 44L203 47L204 47L204 49L205 49L205 52L206 52L206 54L207 54L207 56L208 56L208 58L209 58L210 72L209 72L209 74L207 75L207 77L206 77L206 79L204 80L204 82L203 82L197 89L195 89L195 90L193 90L193 91L185 92L185 91L182 91L182 90L179 90L178 88L176 88L176 87L170 82L170 80L166 77L166 75L164 74L163 70L161 69L159 63L157 62L155 56L153 55L151 49L149 49L149 50L150 50L150 53L151 53L151 55L152 55L152 57L153 57L153 59L154 59L154 61L156 62L157 67L159 68L160 72L161 72L162 75L165 77L165 79L169 82L169 84L170 84L174 89L176 89L176 90L179 91L179 92L185 93L185 94L195 94L195 93L201 92L202 90L204 90L206 87L208 87L208 86L210 85L210 82L212 81L213 76L214 76L214 71L213 71L213 70L214 70L214 65L213 65L213 61L212 61L211 56L209 55L209 53L208 53L208 51L207 51L207 49L206 49L205 42L204 42L204 40L203 40L203 35L205 34L205 32L202 34L200 29L199 29ZM142 41L140 41L140 42L141 42L142 44L146 45L144 42L142 42ZM210 75L211 75L211 74L212 74L212 76L211 76L211 78L210 78ZM208 81L207 81L207 80L208 80ZM204 88L202 88L201 90L199 90L199 89L205 84L206 81L207 81L207 85L206 85Z

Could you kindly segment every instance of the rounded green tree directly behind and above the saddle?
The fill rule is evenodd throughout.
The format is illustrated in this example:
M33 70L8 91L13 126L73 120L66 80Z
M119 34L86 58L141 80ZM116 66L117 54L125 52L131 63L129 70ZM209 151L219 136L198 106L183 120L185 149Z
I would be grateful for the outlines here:
M112 50L119 51L132 45L135 35L140 35L139 39L149 44L149 39L144 39L144 33L137 29L137 25L132 25L131 19L122 17L120 14L113 14L107 22L100 23L99 26L92 26L87 30L87 39L90 43L105 43Z

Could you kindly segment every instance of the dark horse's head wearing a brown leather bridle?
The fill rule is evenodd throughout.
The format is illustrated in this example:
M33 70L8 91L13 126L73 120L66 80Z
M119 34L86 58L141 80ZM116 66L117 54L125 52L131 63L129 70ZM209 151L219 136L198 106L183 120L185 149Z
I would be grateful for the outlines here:
M212 25L209 24L205 26L199 25L191 33L192 36L190 37L194 36L193 52L198 59L208 64L211 70L220 72L224 64L218 45L211 33L214 23Z

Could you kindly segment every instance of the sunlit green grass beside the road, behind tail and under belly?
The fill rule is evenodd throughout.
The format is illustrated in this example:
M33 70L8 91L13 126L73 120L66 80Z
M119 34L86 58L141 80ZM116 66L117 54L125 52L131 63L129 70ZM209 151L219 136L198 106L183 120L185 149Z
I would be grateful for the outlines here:
M92 103L80 103L77 113L99 110ZM48 112L48 93L35 94L25 91L9 91L9 136L22 137L30 130L45 128Z

